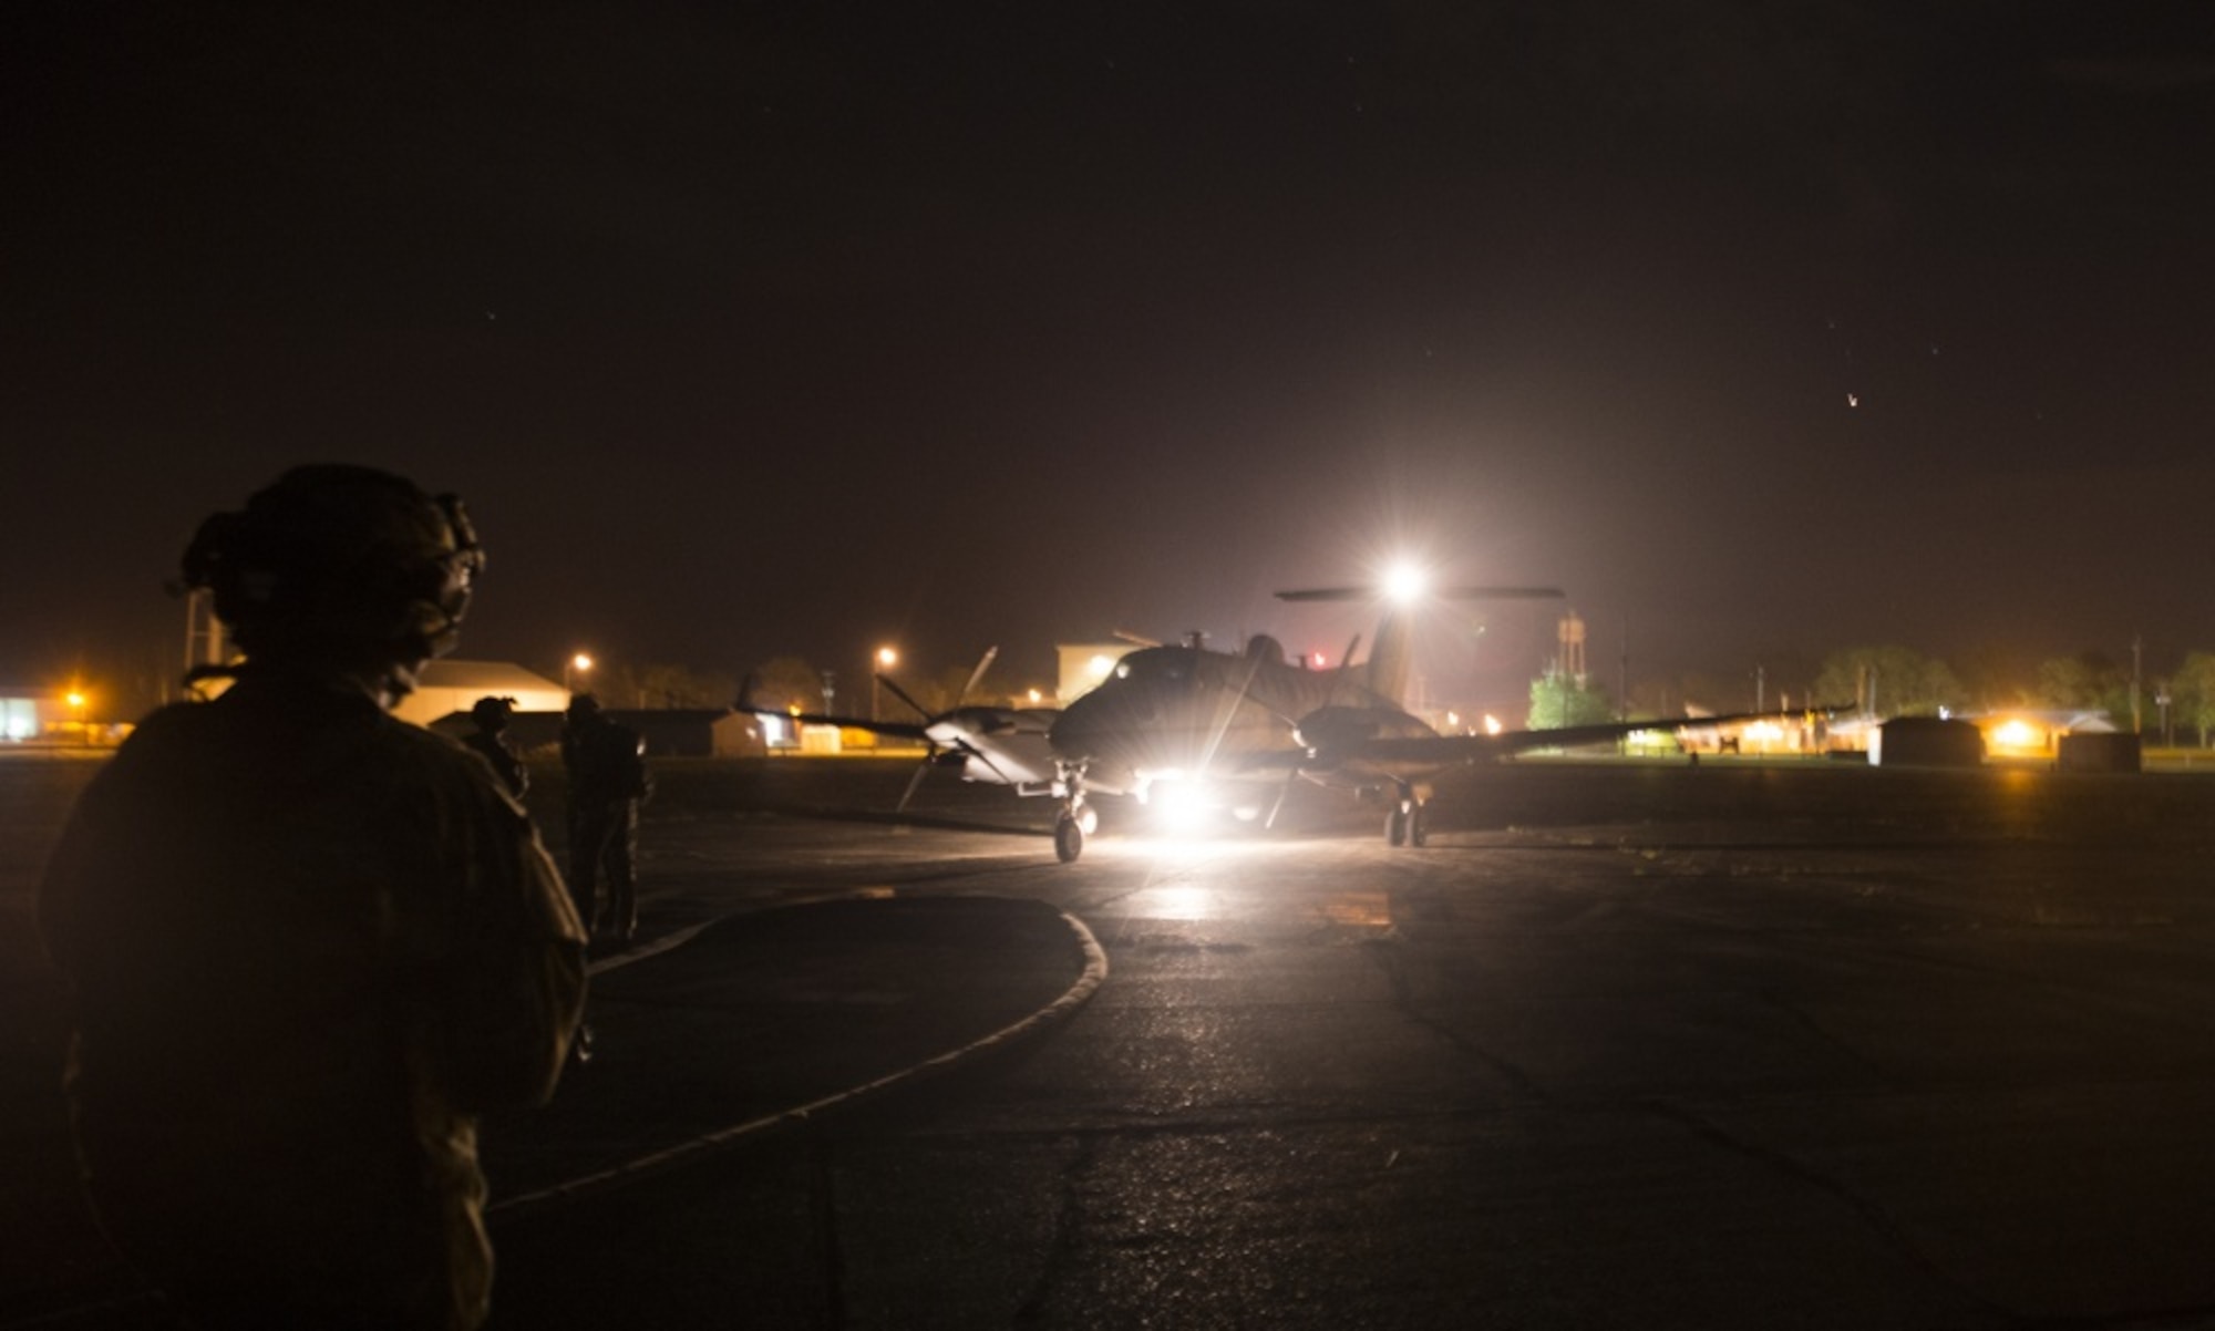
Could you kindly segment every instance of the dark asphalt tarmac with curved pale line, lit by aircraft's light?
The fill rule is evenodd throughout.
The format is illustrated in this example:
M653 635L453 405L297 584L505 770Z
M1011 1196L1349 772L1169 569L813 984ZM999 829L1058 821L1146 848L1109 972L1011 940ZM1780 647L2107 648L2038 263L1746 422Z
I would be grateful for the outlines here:
M1517 764L1076 866L895 764L660 780L600 1052L487 1125L496 1327L2215 1327L2204 775ZM0 1327L159 1327L31 861Z

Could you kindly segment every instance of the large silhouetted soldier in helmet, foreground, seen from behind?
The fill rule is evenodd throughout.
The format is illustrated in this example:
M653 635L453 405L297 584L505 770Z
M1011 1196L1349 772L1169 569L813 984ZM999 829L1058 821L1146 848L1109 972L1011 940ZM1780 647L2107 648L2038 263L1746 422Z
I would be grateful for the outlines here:
M547 1098L585 937L485 764L385 709L454 647L452 496L299 467L184 556L246 662L146 718L40 895L115 1247L208 1329L478 1327L476 1116Z

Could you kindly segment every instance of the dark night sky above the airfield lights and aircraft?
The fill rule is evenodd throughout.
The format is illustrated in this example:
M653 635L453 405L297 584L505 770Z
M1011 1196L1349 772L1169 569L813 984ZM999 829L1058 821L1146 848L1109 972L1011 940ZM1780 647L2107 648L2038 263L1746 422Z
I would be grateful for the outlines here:
M1395 547L1635 678L2215 649L2215 7L543 9L7 9L0 680L299 461L540 669L1336 653Z

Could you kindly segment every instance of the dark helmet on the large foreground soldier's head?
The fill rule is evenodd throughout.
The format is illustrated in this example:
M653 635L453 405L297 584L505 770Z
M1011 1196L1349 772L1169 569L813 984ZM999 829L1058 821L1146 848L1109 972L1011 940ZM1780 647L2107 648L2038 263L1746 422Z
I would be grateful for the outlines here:
M452 494L374 467L295 467L184 551L184 585L248 658L348 656L410 664L461 640L485 567Z

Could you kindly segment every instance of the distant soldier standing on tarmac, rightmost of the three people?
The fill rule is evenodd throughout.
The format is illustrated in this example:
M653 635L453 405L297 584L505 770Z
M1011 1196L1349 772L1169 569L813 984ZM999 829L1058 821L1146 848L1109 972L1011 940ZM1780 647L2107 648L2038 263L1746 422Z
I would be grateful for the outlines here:
M638 937L638 802L653 793L645 742L578 693L560 735L569 771L569 895L594 937ZM600 899L600 879L607 897Z

